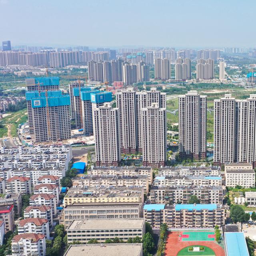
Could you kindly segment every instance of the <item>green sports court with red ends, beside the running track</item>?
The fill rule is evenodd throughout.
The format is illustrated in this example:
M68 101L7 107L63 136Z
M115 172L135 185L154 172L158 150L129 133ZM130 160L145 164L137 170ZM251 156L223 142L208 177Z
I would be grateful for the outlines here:
M185 241L214 241L214 231L202 231L202 232L180 232L180 242Z

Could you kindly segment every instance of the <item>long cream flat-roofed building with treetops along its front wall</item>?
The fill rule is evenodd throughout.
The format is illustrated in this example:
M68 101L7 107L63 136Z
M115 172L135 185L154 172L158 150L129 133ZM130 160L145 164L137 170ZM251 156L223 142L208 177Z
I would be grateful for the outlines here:
M142 238L144 233L144 218L73 220L67 228L68 244L71 244L73 241L85 244L91 239L105 242L107 239L115 237L126 242L128 238L135 238L136 236Z

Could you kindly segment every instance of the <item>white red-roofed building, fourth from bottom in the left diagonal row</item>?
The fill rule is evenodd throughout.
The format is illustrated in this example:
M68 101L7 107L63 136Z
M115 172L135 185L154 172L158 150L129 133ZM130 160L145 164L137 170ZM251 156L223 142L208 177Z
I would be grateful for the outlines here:
M52 194L34 194L29 199L29 204L42 204L52 206L52 216L55 217L57 215L57 201L56 196Z

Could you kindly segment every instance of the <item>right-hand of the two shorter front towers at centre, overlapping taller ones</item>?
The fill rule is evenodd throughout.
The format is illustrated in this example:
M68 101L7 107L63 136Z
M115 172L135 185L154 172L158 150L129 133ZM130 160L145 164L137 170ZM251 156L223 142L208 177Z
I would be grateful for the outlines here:
M166 162L166 108L152 103L141 110L142 164L159 168Z

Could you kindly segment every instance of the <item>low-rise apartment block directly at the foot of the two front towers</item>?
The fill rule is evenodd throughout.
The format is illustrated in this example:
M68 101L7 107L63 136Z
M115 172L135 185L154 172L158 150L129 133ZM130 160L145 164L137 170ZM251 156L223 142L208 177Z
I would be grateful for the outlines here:
M149 184L153 181L152 167L148 166L92 166L88 172L88 175L119 175L119 176L138 176L147 175Z

